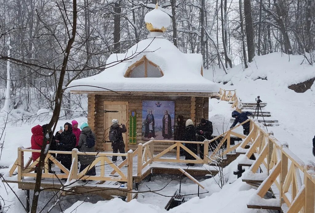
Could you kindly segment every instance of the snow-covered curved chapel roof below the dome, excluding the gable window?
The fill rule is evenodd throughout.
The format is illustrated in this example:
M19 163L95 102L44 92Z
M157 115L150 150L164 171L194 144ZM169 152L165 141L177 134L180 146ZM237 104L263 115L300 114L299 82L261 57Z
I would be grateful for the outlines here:
M162 77L124 77L126 70L143 56L157 64L163 71ZM123 62L121 62L123 61ZM70 90L116 91L116 92L217 92L218 84L201 75L202 55L180 52L163 36L140 41L126 53L112 54L107 59L106 69L98 75L72 81ZM79 86L79 85L90 85ZM76 87L73 87L76 86ZM103 88L97 88L103 87Z

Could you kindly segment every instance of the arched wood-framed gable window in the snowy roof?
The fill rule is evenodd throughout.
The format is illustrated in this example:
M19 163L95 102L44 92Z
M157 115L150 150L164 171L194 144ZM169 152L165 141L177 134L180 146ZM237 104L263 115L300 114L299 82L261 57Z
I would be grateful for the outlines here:
M159 78L163 75L157 64L143 56L139 61L128 67L124 76L127 78Z

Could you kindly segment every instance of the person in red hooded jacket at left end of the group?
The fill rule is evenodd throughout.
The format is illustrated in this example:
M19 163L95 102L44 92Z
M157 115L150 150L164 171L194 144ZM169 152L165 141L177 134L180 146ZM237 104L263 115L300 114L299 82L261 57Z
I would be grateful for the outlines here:
M40 125L34 126L31 129L32 132L32 137L31 137L31 148L32 149L42 149L42 145L43 145L43 139L44 139L44 135L43 135L43 127ZM49 141L47 141L47 143L49 143ZM35 162L37 160L37 158L39 158L40 156L40 152L32 152L32 159ZM36 167L38 166L38 164L36 165ZM37 168L35 169L35 172L37 171Z

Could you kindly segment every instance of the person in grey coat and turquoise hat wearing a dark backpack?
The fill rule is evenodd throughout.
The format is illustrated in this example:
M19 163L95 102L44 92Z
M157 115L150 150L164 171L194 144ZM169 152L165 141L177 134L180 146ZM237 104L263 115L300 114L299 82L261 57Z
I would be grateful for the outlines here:
M89 127L87 122L83 122L80 126L80 129L82 130L80 137L79 137L79 151L80 152L95 152L95 145L91 148L86 146L86 137L90 134L96 139L96 135L92 132L92 129ZM86 167L88 167L93 161L95 160L94 155L80 155L80 172L83 171ZM95 176L95 166L93 166L85 175L89 176Z

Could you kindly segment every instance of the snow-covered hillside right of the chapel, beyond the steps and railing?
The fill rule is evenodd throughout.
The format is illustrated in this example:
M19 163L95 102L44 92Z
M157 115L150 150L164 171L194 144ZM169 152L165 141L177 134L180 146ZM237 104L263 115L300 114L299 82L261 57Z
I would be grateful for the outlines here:
M246 70L243 64L239 64L224 75L223 70L216 67L214 72L212 69L205 71L204 76L215 82L227 82L222 83L221 88L237 89L242 102L255 102L255 98L261 96L261 100L267 103L264 110L270 111L280 124L268 127L268 131L272 131L279 141L288 142L289 149L301 160L315 162L312 155L315 91L296 93L288 88L289 85L315 77L315 67L302 63L303 59L303 56L271 53L256 56ZM211 100L211 103L218 104L216 100ZM209 118L218 113L224 114L226 118L231 117L231 111L222 110L226 103L219 103L218 106L220 111L216 111L215 105L212 106L213 111L209 113Z

